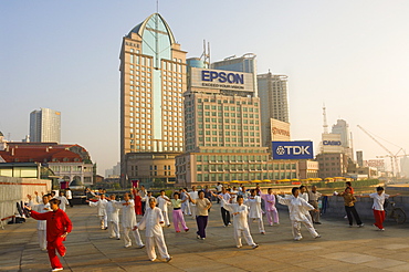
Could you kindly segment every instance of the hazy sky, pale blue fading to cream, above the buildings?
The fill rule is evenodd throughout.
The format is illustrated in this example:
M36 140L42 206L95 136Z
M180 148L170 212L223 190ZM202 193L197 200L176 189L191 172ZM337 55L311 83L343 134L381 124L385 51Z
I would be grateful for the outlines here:
M0 132L20 142L30 112L60 111L62 143L84 146L104 175L119 160L122 39L156 9L155 0L0 1ZM409 153L409 1L161 0L159 13L188 57L206 40L211 61L254 53L259 73L287 75L292 139L318 150L325 104L329 127L345 119L364 159L387 151L357 125Z

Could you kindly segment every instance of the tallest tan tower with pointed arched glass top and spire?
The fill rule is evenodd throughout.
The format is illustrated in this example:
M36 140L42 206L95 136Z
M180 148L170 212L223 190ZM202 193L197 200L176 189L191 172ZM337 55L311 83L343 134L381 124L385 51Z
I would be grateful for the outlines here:
M151 177L144 176L143 182L160 178L168 181L168 166L175 160L166 154L183 150L186 52L176 43L164 18L154 13L123 38L119 59L120 180L124 186L127 177L140 179L130 172L135 167L139 167L138 171L133 172L138 174L161 168L155 163L155 154L161 153L168 158L166 177L153 172ZM132 161L144 166L128 165L127 154L133 154Z

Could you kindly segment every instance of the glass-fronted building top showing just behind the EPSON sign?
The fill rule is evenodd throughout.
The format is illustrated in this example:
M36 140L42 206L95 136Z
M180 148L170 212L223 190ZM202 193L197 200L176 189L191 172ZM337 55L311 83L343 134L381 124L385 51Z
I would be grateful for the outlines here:
M232 56L226 57L222 61L213 62L211 64L211 67L217 69L217 70L252 73L254 96L258 96L255 56L256 55L253 53L247 53L247 54L243 54L242 56L232 55Z

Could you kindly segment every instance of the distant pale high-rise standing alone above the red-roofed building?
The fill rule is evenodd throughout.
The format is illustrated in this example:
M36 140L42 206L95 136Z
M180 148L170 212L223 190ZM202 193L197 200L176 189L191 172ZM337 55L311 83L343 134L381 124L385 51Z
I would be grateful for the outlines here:
M61 113L41 108L30 113L30 142L60 143Z

